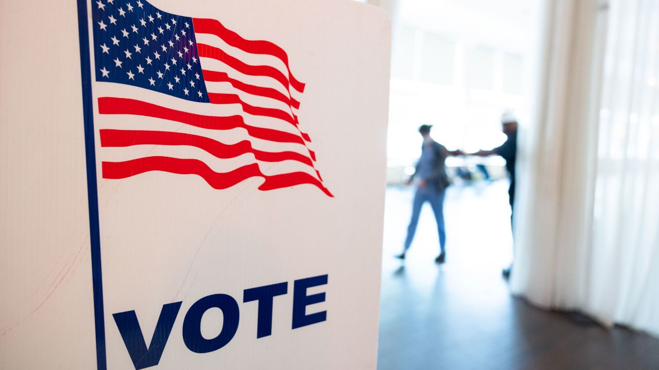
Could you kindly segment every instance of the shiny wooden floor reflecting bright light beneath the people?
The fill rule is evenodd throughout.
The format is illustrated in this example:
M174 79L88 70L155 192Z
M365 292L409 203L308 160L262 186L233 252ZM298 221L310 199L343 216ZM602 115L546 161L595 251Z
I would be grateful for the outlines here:
M411 190L387 190L378 369L659 370L659 339L583 326L512 298L505 182L449 190L447 263L426 205L404 263Z

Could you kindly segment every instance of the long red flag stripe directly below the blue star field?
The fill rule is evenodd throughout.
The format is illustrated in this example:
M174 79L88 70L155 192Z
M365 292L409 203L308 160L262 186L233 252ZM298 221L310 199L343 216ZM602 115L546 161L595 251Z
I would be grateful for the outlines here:
M123 97L100 97L98 98L98 113L101 115L138 115L154 117L158 119L173 120L210 130L231 130L232 128L244 128L253 138L270 140L280 143L304 144L304 140L296 134L273 130L272 128L260 128L245 124L241 116L217 117L204 116L195 113L177 111L146 103L144 101L127 99ZM312 158L315 156L312 155ZM315 159L314 159L315 161Z

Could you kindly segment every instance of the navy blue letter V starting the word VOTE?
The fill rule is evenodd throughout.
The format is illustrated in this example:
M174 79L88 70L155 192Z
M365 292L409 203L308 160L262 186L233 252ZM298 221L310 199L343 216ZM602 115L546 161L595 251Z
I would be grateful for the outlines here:
M142 329L140 328L140 323L137 321L135 311L112 314L115 318L115 323L117 323L117 328L119 328L119 332L121 333L121 338L123 338L124 344L126 344L126 349L128 350L132 364L135 366L135 370L158 365L160 357L165 350L169 333L171 333L174 321L179 314L181 303L183 302L163 305L149 348L146 348L144 334L142 334Z

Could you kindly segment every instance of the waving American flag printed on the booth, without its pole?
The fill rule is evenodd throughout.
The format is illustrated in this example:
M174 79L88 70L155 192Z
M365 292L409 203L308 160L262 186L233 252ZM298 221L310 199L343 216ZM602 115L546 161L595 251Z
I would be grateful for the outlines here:
M226 189L258 177L260 190L310 184L332 196L281 47L144 0L91 5L103 178L196 174Z

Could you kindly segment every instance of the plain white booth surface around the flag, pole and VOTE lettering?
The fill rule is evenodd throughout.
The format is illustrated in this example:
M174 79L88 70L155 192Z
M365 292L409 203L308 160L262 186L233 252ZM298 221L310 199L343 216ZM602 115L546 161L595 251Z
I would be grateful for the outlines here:
M154 0L281 45L306 83L299 119L335 195L309 185L214 190L196 176L99 176L109 369L132 369L111 317L134 309L150 340L161 305L183 301L154 369L374 369L389 75L384 13L351 0ZM0 3L0 369L94 369L94 311L77 9ZM97 115L98 117L98 115ZM98 140L98 137L97 137ZM100 161L100 159L99 159ZM293 280L329 275L328 321L291 330ZM243 290L289 282L272 336L256 339ZM188 307L239 302L225 348L183 344ZM216 334L217 319L204 319Z

